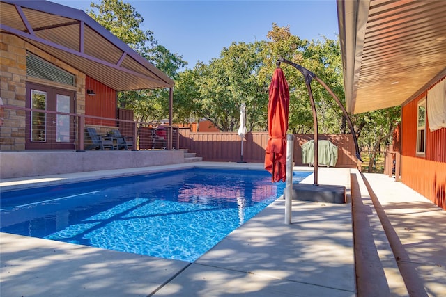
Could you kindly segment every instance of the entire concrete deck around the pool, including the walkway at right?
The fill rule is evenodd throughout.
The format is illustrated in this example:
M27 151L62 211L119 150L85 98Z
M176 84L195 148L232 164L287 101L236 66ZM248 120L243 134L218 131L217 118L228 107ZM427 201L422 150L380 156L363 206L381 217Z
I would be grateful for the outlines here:
M180 168L187 166L262 168L263 164L199 162ZM84 172L2 180L0 185L22 188L44 180L60 183L130 174L130 170ZM304 182L312 183L312 176ZM0 294L409 296L415 290L418 295L413 296L441 296L446 292L445 211L384 175L319 168L319 183L346 186L351 200L293 201L292 224L285 225L284 200L279 198L192 264L1 233ZM402 251L395 249L389 229Z

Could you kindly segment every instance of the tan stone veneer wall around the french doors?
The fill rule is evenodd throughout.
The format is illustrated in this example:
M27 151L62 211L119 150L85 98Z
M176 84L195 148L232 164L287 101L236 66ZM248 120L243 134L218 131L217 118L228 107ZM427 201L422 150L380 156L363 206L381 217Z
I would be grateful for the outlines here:
M75 86L63 83L26 77L26 51L49 61L75 75ZM76 113L85 113L85 74L62 61L30 45L21 38L10 34L0 34L0 97L3 104L26 107L26 82L52 86L76 92ZM25 150L25 120L24 111L5 110L5 124L1 127L0 150ZM77 135L77 134L76 134Z

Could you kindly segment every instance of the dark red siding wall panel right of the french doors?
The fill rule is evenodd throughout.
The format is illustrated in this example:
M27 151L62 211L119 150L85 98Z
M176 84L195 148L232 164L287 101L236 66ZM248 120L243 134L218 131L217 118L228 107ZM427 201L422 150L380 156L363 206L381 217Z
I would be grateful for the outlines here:
M95 96L87 95L87 90L93 90ZM105 86L105 84L86 77L85 79L85 115L93 115L102 118L116 118L116 107L118 106L116 90ZM111 120L86 119L87 125L116 126Z

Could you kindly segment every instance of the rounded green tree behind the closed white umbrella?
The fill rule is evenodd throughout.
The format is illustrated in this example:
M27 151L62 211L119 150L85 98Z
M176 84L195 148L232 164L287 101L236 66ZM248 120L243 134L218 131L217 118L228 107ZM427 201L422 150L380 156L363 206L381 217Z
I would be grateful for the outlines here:
M240 124L240 105L247 106L249 131L265 127L264 119L268 104L268 86L259 79L262 66L261 51L264 42L233 42L213 58L209 65L198 63L194 67L196 97L200 118L210 120L222 131L235 131Z

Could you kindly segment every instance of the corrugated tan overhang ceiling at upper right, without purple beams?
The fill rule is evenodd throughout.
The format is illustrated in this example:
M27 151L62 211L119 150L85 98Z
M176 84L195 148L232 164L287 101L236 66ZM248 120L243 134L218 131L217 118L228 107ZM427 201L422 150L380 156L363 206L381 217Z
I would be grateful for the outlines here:
M409 102L446 74L446 5L431 0L337 0L346 109Z

